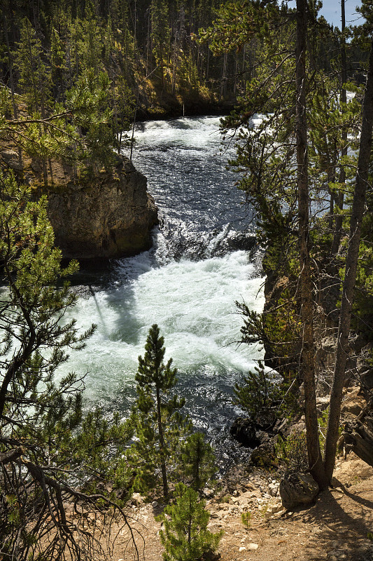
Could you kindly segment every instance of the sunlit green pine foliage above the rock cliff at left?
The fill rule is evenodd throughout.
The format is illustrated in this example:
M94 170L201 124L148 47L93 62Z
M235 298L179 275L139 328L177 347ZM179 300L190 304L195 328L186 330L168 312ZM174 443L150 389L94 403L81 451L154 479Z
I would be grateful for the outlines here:
M109 86L107 74L95 76L87 72L66 93L64 106L56 104L45 118L34 112L17 121L5 116L10 107L10 93L3 88L0 139L14 143L39 161L53 158L69 164L78 162L82 173L97 172L102 165L109 168L114 161L115 144L108 106ZM44 181L47 187L46 177Z

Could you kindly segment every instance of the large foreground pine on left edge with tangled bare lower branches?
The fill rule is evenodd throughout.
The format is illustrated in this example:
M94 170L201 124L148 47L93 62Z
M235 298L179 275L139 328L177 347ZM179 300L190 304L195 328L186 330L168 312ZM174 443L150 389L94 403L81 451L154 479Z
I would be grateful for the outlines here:
M66 276L78 265L62 268L47 201L29 201L30 191L12 174L0 175L0 555L50 560L69 551L98 558L96 536L83 519L118 508L106 484L131 428L118 415L111 425L99 411L85 417L83 377L59 374L94 325L79 334L76 321L66 320L76 303ZM109 454L114 461L105 473ZM99 501L90 498L97 482ZM66 517L73 502L82 513L76 509L76 520Z

